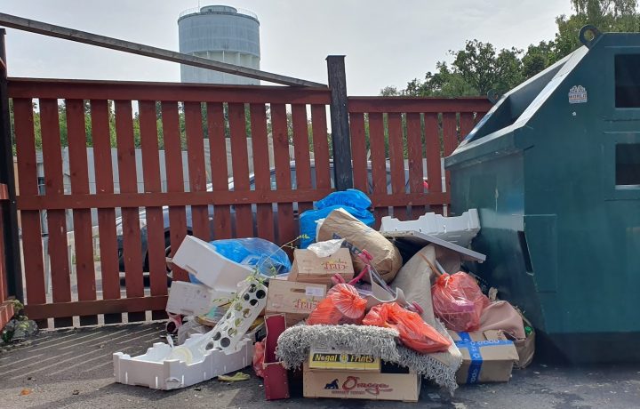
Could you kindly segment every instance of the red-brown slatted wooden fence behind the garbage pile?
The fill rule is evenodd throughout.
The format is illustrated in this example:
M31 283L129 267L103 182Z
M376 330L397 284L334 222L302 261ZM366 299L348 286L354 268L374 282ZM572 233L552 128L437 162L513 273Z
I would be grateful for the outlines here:
M73 317L79 317L80 325L97 324L99 316L105 323L121 322L122 313L128 314L129 321L145 320L146 311L154 318L164 317L167 248L171 256L188 234L204 240L262 237L286 243L298 236L298 214L332 191L332 156L340 152L330 149L328 88L10 78L8 90L18 156L17 205L27 312L43 326L47 318L54 318L55 326L68 326L73 325ZM429 208L442 212L449 196L439 182L440 158L451 153L460 136L490 108L482 99L359 97L350 98L348 107L354 184L371 194L378 219L388 213L401 219L417 217ZM66 121L60 120L60 112ZM62 186L61 132L67 135L70 193ZM90 193L88 183L88 132L96 164L95 194ZM269 164L269 132L273 166ZM38 134L44 192L37 185ZM212 156L210 187L205 136ZM248 136L252 137L252 157L247 154ZM227 178L226 138L231 140L232 184ZM159 141L164 144L167 191L160 183ZM111 168L114 143L119 192L114 191ZM138 143L143 193L138 192L135 177ZM189 191L184 189L181 174L184 149L188 152ZM425 158L428 191L422 184ZM254 175L249 173L250 161ZM122 211L122 233L116 231L117 208ZM74 225L72 261L67 256L68 209ZM98 254L93 251L92 209L98 212ZM142 219L141 210L145 212ZM44 211L51 272L44 269ZM168 223L164 213L168 213ZM76 263L74 274L71 262ZM48 274L51 296L45 288ZM188 277L185 271L174 269L173 278Z

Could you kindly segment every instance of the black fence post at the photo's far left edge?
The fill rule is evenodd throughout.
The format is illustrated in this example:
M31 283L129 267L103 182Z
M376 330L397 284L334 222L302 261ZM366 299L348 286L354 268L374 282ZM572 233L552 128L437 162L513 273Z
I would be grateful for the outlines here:
M8 205L2 208L4 221L4 261L7 271L9 295L24 301L22 291L22 266L20 262L20 237L18 233L18 210L16 207L15 175L13 174L13 149L9 115L9 93L7 91L7 62L4 36L0 28L0 183L6 184Z

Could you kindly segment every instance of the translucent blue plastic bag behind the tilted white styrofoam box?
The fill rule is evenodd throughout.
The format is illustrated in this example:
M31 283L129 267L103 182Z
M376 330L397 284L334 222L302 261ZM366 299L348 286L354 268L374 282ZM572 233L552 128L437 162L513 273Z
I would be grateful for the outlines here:
M292 268L289 256L284 250L262 238L230 238L209 242L216 252L230 261L258 269L262 276L273 277L287 274ZM192 283L200 282L189 274Z

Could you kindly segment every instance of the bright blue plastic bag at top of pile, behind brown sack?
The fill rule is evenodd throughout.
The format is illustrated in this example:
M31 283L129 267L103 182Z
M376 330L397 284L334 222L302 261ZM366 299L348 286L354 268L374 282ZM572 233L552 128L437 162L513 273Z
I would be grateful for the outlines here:
M300 235L305 237L300 239L300 248L305 249L316 241L316 222L338 208L346 210L357 220L372 227L375 218L367 210L371 205L371 199L356 188L333 192L318 200L316 210L308 210L300 214Z

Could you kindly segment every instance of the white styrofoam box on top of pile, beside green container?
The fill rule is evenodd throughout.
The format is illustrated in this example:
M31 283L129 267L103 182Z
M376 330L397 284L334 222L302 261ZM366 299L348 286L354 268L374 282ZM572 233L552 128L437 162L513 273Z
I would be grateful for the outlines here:
M467 247L480 231L480 219L476 209L469 209L456 217L443 217L426 213L417 221L399 221L389 216L382 218L380 233L392 231L417 231L450 243Z

